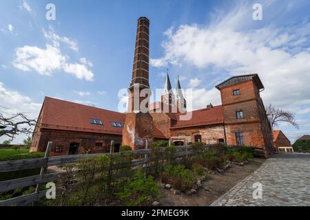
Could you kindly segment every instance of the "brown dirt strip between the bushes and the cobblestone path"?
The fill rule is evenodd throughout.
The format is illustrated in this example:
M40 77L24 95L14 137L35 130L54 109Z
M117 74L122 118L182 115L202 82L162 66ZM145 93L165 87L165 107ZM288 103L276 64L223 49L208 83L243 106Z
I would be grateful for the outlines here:
M202 183L204 187L211 189L209 191L199 188L198 192L193 195L186 195L185 193L174 195L171 190L162 188L160 193L163 198L159 199L159 202L161 206L209 206L239 181L254 172L263 162L265 159L254 158L245 166L232 165L223 173L209 174Z

